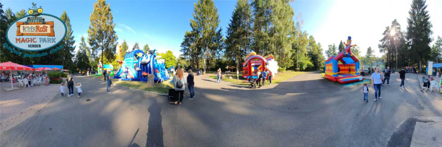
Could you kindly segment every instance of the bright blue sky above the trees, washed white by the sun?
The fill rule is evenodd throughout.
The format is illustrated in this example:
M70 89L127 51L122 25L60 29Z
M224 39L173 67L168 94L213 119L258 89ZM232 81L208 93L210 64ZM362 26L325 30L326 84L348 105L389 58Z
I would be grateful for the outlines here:
M89 16L93 10L94 0L2 0L5 8L19 11L31 7L35 2L42 6L43 13L60 16L66 11L71 19L72 30L75 35L76 45L80 43L81 36L87 38ZM215 0L220 16L220 27L225 35L226 27L231 19L236 0ZM171 50L178 56L180 44L184 33L191 30L189 25L196 0L109 0L111 12L116 23L115 31L118 43L123 39L132 48L135 42L140 47L146 43L151 49L160 52ZM304 21L303 30L313 35L317 42L322 44L324 51L327 45L347 36L353 37L353 44L361 47L362 54L371 46L378 53L377 44L382 38L385 26L389 26L393 19L398 19L405 30L408 10L411 0L296 0L291 4L295 11L294 21L301 13ZM441 0L427 0L433 23L433 37L442 36L442 19L435 19L436 14L442 14Z

